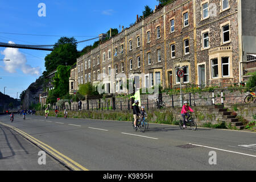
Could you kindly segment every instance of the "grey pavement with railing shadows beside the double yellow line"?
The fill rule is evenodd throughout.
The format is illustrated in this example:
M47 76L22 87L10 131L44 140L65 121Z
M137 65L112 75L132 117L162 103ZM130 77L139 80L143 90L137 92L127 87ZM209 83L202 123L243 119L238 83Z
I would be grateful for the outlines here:
M0 171L64 171L55 159L46 155L46 165L39 165L40 148L15 131L0 125Z

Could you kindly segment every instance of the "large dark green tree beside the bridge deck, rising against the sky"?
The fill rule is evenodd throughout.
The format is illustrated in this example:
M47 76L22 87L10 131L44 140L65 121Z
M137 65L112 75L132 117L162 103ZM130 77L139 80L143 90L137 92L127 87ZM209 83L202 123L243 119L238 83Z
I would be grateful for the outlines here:
M48 73L54 71L58 65L73 65L79 56L77 52L77 43L75 38L60 38L55 44L53 51L45 57L46 72L43 73L44 77Z

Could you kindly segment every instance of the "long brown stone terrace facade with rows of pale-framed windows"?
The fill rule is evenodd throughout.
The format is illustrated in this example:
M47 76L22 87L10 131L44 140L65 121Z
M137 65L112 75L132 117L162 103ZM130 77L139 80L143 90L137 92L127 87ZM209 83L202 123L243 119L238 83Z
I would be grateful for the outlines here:
M141 88L242 82L245 6L241 0L176 0L79 57L77 85L96 85L104 72L107 93L125 92L116 73L138 76ZM179 69L184 78L177 77Z

